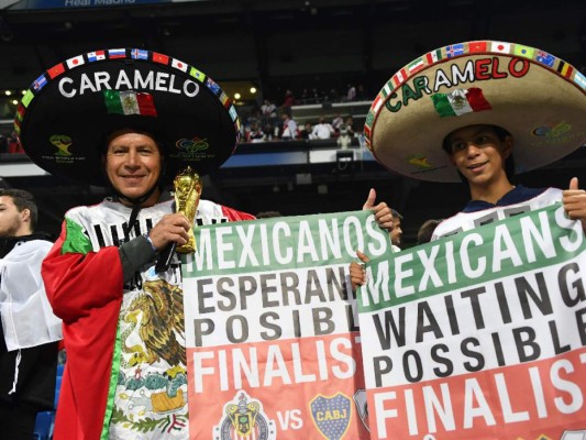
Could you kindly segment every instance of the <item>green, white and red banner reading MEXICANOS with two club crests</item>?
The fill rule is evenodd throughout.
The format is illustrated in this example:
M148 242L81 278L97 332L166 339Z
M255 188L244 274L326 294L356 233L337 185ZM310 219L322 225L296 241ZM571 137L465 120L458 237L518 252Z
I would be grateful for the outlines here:
M368 438L356 250L390 252L368 211L195 230L184 260L189 430L206 439Z

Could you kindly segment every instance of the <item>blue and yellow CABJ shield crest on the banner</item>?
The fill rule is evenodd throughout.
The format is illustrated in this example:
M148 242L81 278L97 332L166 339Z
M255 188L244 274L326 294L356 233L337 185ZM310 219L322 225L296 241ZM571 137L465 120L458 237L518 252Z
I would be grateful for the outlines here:
M335 396L325 397L317 395L309 403L313 424L328 440L342 440L350 427L352 416L352 400L350 397L338 393Z

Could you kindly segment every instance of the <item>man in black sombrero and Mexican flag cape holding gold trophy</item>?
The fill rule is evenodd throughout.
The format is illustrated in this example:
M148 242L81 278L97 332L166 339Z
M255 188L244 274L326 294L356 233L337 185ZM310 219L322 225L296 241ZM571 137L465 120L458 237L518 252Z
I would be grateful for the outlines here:
M176 197L186 188L199 198L185 168L206 174L232 154L234 107L178 59L98 51L38 77L15 125L37 165L113 193L66 213L43 264L67 351L55 439L188 439L180 265L155 263L195 224L254 217L199 200L188 220L163 188L179 172ZM374 196L365 208L388 227L390 210Z

